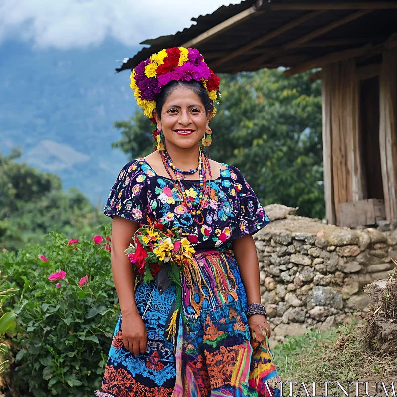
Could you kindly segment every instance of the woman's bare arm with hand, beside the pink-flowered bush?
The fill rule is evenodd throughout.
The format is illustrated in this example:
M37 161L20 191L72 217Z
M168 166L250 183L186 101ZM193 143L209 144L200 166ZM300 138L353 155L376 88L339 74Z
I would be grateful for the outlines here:
M112 225L112 273L122 314L122 334L124 347L132 354L146 351L147 332L135 302L135 271L124 250L133 242L139 228L137 222L113 217Z

